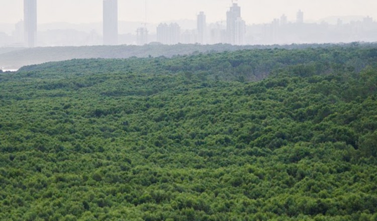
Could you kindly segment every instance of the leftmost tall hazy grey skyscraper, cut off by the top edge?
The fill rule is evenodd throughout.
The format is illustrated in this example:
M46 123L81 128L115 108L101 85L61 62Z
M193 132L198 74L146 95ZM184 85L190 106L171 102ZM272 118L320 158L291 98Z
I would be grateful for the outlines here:
M37 0L24 0L25 44L33 48L37 41Z

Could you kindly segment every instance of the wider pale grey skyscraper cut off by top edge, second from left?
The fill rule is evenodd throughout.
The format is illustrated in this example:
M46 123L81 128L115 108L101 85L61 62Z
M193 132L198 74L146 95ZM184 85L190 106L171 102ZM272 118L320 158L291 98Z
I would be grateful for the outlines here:
M104 45L118 44L118 0L104 0Z

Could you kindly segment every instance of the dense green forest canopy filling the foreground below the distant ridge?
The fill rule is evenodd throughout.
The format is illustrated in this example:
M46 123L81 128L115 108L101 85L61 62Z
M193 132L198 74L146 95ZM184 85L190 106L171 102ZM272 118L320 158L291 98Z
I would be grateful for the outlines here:
M1 220L377 220L377 48L0 73Z

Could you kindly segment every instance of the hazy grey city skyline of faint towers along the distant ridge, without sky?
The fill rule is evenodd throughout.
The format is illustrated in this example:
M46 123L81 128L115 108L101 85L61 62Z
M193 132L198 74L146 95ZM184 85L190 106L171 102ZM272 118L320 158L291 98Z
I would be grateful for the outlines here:
M40 1L42 0L38 0L38 3ZM167 45L178 43L290 44L318 41L376 41L373 36L377 36L377 23L373 22L372 17L363 17L361 21L353 20L353 22L338 19L335 23L336 27L330 27L326 22L317 24L307 22L307 14L302 10L295 13L294 19L288 19L284 13L275 16L267 23L247 25L243 17L248 14L248 9L244 9L235 0L223 11L226 20L217 23L207 23L207 13L200 12L196 16L196 22L193 20L189 22L192 26L187 25L187 20L186 22L184 20L161 22L158 25L148 22L131 24L119 21L118 12L121 9L118 7L118 2L121 0L101 1L103 2L101 13L103 21L100 23L91 24L87 26L91 28L86 30L64 28L58 23L51 24L50 29L41 30L40 26L43 24L38 24L37 39L37 17L39 17L36 10L37 0L24 0L25 22L17 23L14 26L15 31L11 34L0 31L0 47L144 45L151 42ZM38 11L38 15L39 13ZM2 27L1 24L0 27ZM128 32L124 32L125 28ZM119 30L122 31L119 32ZM22 39L20 36L25 36L24 40L20 40Z

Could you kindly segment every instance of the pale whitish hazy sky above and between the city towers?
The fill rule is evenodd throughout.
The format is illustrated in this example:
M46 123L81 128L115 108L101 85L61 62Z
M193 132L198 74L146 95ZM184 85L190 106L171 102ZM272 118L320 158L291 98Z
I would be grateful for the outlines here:
M103 0L37 0L38 23L90 23L102 21ZM119 20L144 21L144 0L118 0ZM377 18L377 0L239 0L247 24L269 23L286 14L290 21L302 10L306 21L330 16L371 16ZM149 23L196 19L200 11L208 22L226 19L231 0L147 0ZM23 19L23 0L1 0L0 23Z

